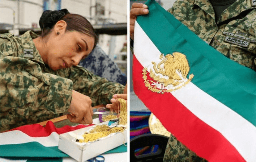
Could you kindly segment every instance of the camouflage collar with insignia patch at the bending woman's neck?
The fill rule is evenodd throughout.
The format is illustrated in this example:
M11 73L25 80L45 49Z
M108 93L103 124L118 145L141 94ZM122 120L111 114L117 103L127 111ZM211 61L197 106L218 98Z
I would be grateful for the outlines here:
M35 39L39 37L39 35L37 35L36 33L34 33L33 31L26 31L23 35L20 36L21 38L21 45L23 46L23 57L26 57L26 51L31 51L31 53L33 53L33 56L31 55L31 58L29 58L30 60L39 62L41 64L44 64L44 61L41 57L41 55L39 54L38 50L36 49L36 46L33 42L32 39Z

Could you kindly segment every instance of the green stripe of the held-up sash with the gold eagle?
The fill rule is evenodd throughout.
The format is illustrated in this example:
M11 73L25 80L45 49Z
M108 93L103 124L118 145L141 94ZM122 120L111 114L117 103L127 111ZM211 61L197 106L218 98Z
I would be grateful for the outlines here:
M157 2L146 4L149 14L138 16L137 22L159 51L185 54L192 82L256 126L256 72L206 44Z

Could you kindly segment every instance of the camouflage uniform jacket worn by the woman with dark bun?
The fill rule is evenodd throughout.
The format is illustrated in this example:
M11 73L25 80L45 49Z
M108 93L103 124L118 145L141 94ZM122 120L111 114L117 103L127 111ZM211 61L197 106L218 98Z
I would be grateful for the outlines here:
M72 89L89 96L92 106L110 103L124 86L98 77L83 67L53 71L45 65L32 31L0 36L0 130L37 123L68 110Z

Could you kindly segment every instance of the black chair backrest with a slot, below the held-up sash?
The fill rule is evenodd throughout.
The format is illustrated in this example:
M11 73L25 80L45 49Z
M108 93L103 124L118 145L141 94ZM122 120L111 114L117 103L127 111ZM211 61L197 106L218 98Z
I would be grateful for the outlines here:
M163 162L165 148L168 137L157 134L143 134L136 136L130 140L130 161L131 162ZM156 152L135 155L135 150L143 147L151 147L157 145Z

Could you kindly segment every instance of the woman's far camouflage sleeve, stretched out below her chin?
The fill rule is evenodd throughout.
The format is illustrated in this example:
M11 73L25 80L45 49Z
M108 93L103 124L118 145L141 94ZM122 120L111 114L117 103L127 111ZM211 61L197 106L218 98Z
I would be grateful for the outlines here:
M109 104L113 94L123 93L124 90L122 84L96 76L81 66L58 70L56 75L71 79L73 89L89 96L92 106Z

